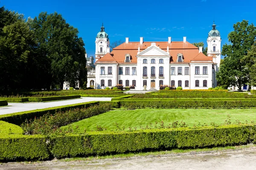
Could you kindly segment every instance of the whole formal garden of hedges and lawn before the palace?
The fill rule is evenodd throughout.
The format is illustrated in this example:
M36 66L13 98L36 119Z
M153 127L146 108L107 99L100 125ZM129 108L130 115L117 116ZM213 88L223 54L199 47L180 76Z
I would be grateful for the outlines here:
M255 91L251 91L255 93ZM119 90L29 92L5 98L108 96L0 115L0 160L47 160L256 141L256 95L214 90L123 94Z

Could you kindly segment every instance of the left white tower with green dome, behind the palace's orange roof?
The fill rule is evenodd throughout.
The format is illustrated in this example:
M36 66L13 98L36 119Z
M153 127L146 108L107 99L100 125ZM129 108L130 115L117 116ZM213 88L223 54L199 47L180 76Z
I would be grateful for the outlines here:
M103 57L105 54L110 52L108 34L105 32L105 27L103 26L103 23L102 27L100 28L100 31L96 36L95 45L96 61Z

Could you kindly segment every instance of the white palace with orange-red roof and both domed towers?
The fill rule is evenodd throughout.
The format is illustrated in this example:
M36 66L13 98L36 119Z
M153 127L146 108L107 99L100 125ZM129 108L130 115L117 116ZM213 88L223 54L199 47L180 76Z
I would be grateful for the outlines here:
M129 42L129 38L110 52L108 34L101 27L96 37L95 70L88 70L87 87L105 89L117 84L135 90L159 90L160 85L183 89L208 89L217 86L216 72L221 61L221 37L216 25L207 38L207 56L202 47L186 41ZM93 74L92 74L93 73ZM93 75L93 76L92 76ZM95 77L94 77L95 76Z

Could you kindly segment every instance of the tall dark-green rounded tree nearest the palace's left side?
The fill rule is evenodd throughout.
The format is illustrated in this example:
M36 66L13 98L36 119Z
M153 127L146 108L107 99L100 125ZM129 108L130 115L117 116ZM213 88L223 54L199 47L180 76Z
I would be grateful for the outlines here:
M66 23L61 14L42 12L31 27L38 41L38 53L49 63L46 68L51 75L49 85L62 89L65 81L74 86L77 81L87 79L84 42L78 37L78 30Z

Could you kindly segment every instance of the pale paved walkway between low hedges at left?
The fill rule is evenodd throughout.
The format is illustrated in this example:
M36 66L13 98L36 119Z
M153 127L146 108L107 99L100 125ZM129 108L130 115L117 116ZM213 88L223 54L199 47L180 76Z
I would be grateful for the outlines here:
M80 99L61 100L55 102L8 103L8 106L0 107L0 115L91 101L111 101L111 97L81 97Z

